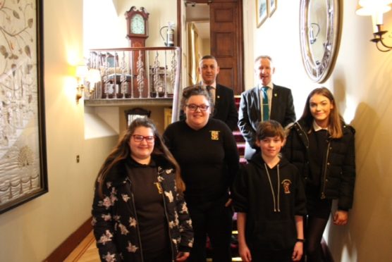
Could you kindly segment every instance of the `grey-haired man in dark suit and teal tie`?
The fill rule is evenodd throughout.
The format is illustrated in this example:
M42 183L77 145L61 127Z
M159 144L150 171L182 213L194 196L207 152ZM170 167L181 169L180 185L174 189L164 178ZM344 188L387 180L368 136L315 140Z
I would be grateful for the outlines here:
M274 72L275 68L271 57L258 56L255 59L255 75L259 79L257 86L241 94L238 127L240 127L246 141L246 159L250 159L257 149L255 132L259 122L263 119L263 113L267 113L267 119L276 120L283 127L295 122L293 94L287 87L272 83ZM268 108L265 110L262 106L263 87L267 90L268 99Z

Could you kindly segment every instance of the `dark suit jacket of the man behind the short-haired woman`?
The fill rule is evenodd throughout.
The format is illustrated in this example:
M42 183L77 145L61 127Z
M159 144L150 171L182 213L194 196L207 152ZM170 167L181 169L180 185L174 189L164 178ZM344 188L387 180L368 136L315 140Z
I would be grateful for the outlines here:
M185 87L187 89L188 87ZM216 84L215 105L212 118L222 120L231 130L238 127L238 111L235 106L233 89ZM183 110L180 111L180 120L185 119Z

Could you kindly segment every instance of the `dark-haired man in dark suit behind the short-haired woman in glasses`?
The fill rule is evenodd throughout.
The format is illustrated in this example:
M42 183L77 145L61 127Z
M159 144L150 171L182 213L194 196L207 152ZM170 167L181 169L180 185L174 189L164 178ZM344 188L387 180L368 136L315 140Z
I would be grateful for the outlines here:
M214 56L203 56L199 62L198 72L202 77L200 85L209 89L214 101L212 118L222 120L231 130L236 130L238 127L238 111L235 106L234 92L233 89L216 83L216 76L219 74L216 58ZM185 87L185 89L187 88L189 87ZM180 112L180 119L183 118L183 112Z

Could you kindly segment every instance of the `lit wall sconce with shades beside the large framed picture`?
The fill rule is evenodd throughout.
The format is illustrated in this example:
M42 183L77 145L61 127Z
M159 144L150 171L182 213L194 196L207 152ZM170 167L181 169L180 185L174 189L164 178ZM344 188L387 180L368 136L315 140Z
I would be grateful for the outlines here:
M101 73L98 69L88 68L87 66L76 66L76 79L78 86L76 87L76 104L83 97L83 94L90 97L94 92L96 82L101 81ZM87 93L85 93L88 91Z

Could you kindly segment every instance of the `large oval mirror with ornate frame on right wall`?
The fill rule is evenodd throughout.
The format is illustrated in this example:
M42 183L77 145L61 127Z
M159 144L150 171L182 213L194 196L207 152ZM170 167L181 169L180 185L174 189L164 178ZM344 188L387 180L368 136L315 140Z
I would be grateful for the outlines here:
M341 38L341 0L300 1L300 46L307 75L324 82L331 75Z

